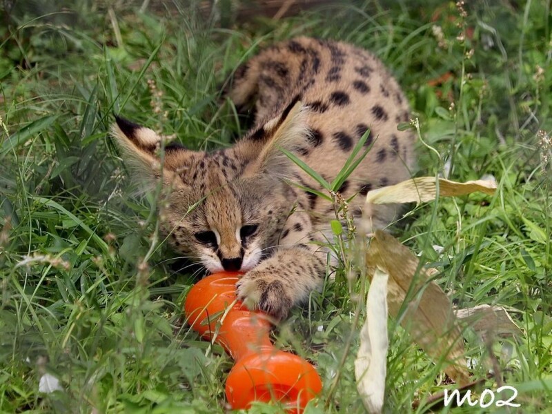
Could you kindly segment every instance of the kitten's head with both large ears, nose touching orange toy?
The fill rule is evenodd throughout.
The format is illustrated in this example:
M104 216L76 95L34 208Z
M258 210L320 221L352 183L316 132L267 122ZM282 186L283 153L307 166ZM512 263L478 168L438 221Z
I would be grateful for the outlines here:
M232 148L211 153L164 146L153 130L121 118L112 137L135 184L161 188L161 225L175 250L211 272L247 271L277 244L290 213L284 179L293 181L293 163L282 148L305 145L305 115L293 102Z

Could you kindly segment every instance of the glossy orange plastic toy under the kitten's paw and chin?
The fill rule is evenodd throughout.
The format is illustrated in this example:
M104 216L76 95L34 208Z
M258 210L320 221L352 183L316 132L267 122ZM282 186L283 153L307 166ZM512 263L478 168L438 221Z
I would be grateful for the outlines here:
M226 380L226 398L234 409L254 401L279 401L290 413L301 413L322 389L315 368L304 359L278 351L270 342L270 322L235 300L239 272L210 275L188 293L184 313L192 328L206 339L215 337L235 359ZM220 323L221 318L222 323Z

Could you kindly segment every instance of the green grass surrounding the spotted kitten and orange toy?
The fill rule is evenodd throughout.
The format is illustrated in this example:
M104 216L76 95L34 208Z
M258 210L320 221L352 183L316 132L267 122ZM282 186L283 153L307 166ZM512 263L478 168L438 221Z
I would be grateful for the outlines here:
M540 144L552 132L549 1L473 2L465 18L453 3L366 2L230 28L199 23L193 9L117 8L113 20L92 1L64 1L72 12L50 3L16 2L0 27L0 411L225 411L232 362L219 346L206 355L181 317L196 269L165 246L155 197L132 197L107 131L120 112L190 148L230 145L244 127L217 85L259 45L299 34L351 41L388 64L427 145L420 175L447 166L458 181L497 179L494 197L415 208L397 235L440 270L457 306L504 306L522 328L491 344L466 331L474 379L495 360L479 391L499 379L520 391L520 412L551 410L552 156ZM457 39L462 28L473 37ZM351 299L361 284L345 279L338 270L274 334L322 376L308 413L364 412L353 369L364 317L355 322ZM453 386L393 322L389 335L384 410L419 400L412 411L424 412L431 393ZM62 392L39 393L45 372Z

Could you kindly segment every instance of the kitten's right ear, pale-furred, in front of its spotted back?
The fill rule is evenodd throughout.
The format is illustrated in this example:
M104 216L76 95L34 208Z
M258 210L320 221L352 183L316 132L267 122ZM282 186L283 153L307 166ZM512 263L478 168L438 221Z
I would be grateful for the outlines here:
M309 129L306 122L308 108L294 99L277 117L246 138L257 141L257 152L244 171L245 177L269 174L286 178L293 161L282 150L297 154L307 146ZM255 148L255 146L251 146Z

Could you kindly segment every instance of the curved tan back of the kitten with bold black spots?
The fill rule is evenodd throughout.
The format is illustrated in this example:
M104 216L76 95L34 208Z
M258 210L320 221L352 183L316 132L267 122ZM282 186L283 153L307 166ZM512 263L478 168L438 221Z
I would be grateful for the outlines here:
M365 145L371 150L341 188L346 197L411 175L415 136L397 130L410 119L408 101L382 61L362 48L308 37L277 43L236 70L228 95L237 106L255 101L257 124L299 96L310 108L310 133L298 154L328 181L370 130ZM302 180L318 187L307 175ZM321 200L311 207L324 214L332 208Z

